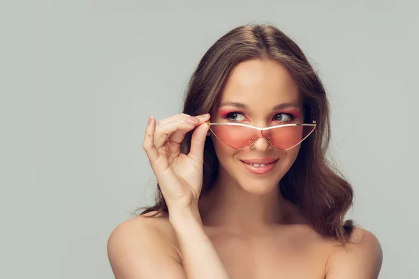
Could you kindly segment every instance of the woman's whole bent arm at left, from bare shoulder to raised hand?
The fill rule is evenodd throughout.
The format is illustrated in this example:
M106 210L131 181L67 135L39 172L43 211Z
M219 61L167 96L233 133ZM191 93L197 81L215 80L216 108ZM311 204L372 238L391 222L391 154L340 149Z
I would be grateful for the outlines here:
M225 266L207 236L198 211L203 187L203 151L210 114L192 117L177 114L159 121L149 117L142 147L156 174L169 221L180 247L177 259L174 241L164 241L147 220L140 218L137 227L122 226L112 232L108 256L117 279L229 279ZM188 154L180 144L193 130ZM150 220L148 220L150 221ZM156 220L154 220L156 221ZM167 236L167 235L166 235Z

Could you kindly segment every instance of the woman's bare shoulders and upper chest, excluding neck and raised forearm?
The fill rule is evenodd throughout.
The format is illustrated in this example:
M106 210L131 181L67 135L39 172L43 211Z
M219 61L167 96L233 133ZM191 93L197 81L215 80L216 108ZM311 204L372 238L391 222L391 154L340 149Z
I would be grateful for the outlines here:
M358 227L351 238L355 244L346 246L324 239L304 224L277 225L251 233L205 225L205 232L234 279L357 278L351 277L354 264L356 269L369 270L368 277L358 278L372 279L378 278L381 268L381 250L376 237ZM119 243L129 245L110 254L114 257L111 256L111 262L117 279L168 278L169 275L186 278L181 277L184 276L182 255L167 216L138 216L119 225L114 234L115 238L124 237L125 241ZM198 257L205 259L205 255ZM346 269L348 275L342 274ZM126 271L133 273L128 275ZM147 275L141 276L142 271Z

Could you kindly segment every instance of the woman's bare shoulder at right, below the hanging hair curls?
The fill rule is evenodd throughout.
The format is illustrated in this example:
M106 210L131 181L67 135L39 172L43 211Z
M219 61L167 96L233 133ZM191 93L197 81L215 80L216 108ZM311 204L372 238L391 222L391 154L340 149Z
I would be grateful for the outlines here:
M376 279L382 262L383 251L376 236L354 227L348 243L337 246L330 255L326 279Z

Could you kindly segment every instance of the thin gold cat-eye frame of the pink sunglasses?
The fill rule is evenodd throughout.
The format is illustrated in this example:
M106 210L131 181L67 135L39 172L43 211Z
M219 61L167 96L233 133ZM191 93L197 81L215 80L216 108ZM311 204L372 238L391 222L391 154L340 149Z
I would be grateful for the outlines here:
M219 138L219 137L218 137L218 136L214 133L214 131L211 129L211 126L217 126L217 125L243 126L243 127L247 127L247 128L252 128L252 129L260 130L260 136L259 136L259 137L257 137L256 139L252 139L253 141L251 142L251 144L249 144L249 145L247 145L247 146L244 146L244 147L242 147L242 148L240 148L240 149L236 149L236 148L234 148L233 146L230 146L230 145L226 144L227 146L231 147L232 149L236 149L236 150L242 150L242 149L245 149L245 148L247 148L247 147L249 147L249 146L253 145L253 144L254 144L257 140L259 140L259 139L260 139L260 137L265 138L265 140L266 140L267 142L269 142L269 144L270 144L270 145L274 146L274 144L272 144L272 142L270 142L269 136L268 136L268 137L265 137L264 135L262 135L262 132L263 132L264 130L271 130L271 129L274 129L274 128L290 127L290 126L310 126L310 127L314 127L314 129L313 129L313 130L311 130L311 132L310 132L307 136L305 136L305 137L304 137L304 139L302 139L302 140L301 140L300 142L298 142L297 144L295 144L295 145L293 145L293 146L289 147L288 149L279 149L279 148L277 148L277 146L274 146L274 148L276 148L276 149L279 149L279 150L282 150L282 151L287 151L287 150L292 149L293 147L297 146L298 144L300 144L300 143L304 142L304 140L305 140L305 139L307 139L307 137L309 137L309 135L311 135L311 134L314 132L314 130L316 130L316 127L317 127L316 121L313 121L313 123L292 123L292 124L281 124L281 125L271 126L271 127L266 127L266 128L258 128L258 127L251 126L251 125L247 125L247 124L243 124L243 123L232 123L232 122L210 122L210 121L207 121L207 123L208 123L208 125L210 126L210 131L211 131L212 135L214 135L217 139L219 139L219 140L220 140L223 144L226 144L226 142L223 142L223 140L221 140L221 139L220 139L220 138Z

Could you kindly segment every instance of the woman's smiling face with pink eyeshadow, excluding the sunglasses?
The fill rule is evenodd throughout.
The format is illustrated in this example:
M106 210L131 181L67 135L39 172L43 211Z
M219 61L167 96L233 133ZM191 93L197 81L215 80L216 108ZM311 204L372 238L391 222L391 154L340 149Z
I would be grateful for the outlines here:
M255 59L238 64L230 72L219 104L211 115L211 122L265 128L303 123L304 119L297 84L284 66L271 60ZM260 137L251 146L237 150L212 133L211 136L219 159L219 178L225 179L225 183L237 183L250 193L269 193L277 187L300 149L299 144L282 151ZM247 164L260 159L274 160L274 163L261 168Z

